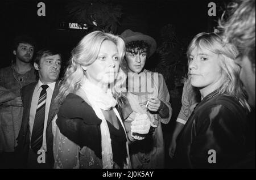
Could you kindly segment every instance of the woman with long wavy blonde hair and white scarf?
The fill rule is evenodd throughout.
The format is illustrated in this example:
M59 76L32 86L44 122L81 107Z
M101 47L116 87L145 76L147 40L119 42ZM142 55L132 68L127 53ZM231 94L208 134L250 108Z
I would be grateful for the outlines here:
M126 76L119 66L124 55L122 38L101 31L89 33L72 50L56 97L55 168L131 168L117 111L125 102Z

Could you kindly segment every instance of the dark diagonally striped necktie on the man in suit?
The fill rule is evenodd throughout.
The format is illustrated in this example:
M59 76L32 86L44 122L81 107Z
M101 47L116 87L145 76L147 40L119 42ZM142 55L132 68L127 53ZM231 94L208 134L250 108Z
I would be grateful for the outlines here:
M30 144L35 153L38 153L38 150L43 144L44 117L46 114L46 89L48 88L48 85L42 85L41 87L43 89L38 100L38 107L36 108Z

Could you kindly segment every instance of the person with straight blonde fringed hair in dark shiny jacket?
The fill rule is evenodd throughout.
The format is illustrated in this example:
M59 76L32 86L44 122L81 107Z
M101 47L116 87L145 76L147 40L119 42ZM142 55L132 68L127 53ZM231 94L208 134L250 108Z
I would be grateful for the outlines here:
M189 76L201 102L181 133L176 149L179 168L227 168L246 147L249 106L241 88L237 49L215 33L199 33L188 47Z

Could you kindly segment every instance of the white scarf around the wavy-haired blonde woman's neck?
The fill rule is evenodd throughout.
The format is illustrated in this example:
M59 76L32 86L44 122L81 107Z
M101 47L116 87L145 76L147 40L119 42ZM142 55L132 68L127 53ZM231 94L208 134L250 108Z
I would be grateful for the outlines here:
M84 92L81 92L81 90ZM112 153L112 145L110 139L110 132L109 127L102 113L102 110L110 110L113 108L115 114L117 115L123 130L125 131L125 127L123 126L122 119L115 108L117 105L117 100L113 98L112 92L108 91L105 93L100 87L91 83L88 79L85 79L81 85L81 90L77 93L77 95L81 96L84 100L88 100L90 105L92 106L95 114L98 118L102 120L100 128L101 128L101 148L102 148L102 167L104 169L112 169L113 168L113 153ZM128 144L126 142L126 151L127 151L127 158L126 164L124 168L131 168L130 163L130 156L129 156L129 149Z

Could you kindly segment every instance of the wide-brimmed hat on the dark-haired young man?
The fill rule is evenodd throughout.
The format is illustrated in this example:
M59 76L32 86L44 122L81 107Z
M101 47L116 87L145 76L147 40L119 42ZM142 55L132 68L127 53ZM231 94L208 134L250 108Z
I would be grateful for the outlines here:
M149 52L149 57L154 54L156 50L156 41L154 38L143 35L141 32L133 32L131 29L126 29L125 31L122 32L121 34L123 40L127 44L128 42L131 41L145 41L150 45L150 52Z

